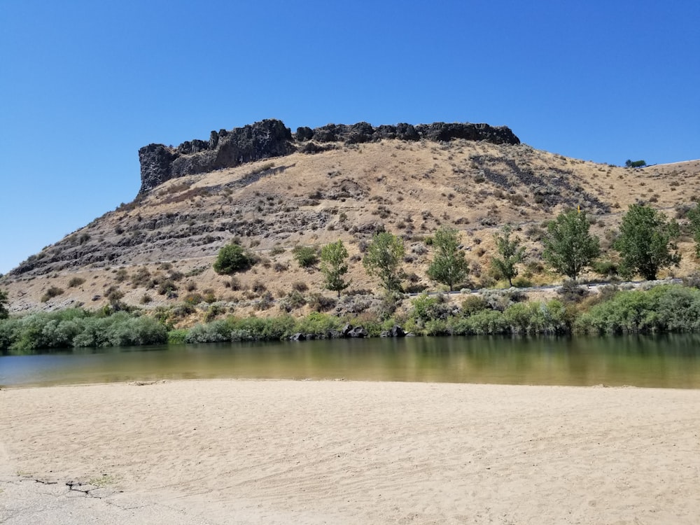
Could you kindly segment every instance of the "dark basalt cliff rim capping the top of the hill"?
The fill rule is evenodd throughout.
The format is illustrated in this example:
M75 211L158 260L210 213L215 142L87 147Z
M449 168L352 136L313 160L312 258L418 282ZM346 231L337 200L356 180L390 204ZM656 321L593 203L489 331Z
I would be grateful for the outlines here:
M299 127L293 134L281 120L237 127L233 130L211 132L209 141L186 141L177 148L163 144L148 144L139 150L141 189L143 195L156 186L177 177L207 173L230 168L245 162L281 157L302 151L317 153L335 148L331 143L361 144L381 139L405 141L450 141L466 139L489 141L493 144L520 144L510 128L488 124L433 123L398 124L373 127L367 123L352 125L329 124L311 130Z

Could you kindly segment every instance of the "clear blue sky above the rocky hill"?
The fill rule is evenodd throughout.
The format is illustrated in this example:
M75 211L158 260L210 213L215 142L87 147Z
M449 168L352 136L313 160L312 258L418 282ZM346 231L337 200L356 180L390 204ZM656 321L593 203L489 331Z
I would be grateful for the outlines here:
M141 146L263 118L486 122L584 160L700 157L697 0L0 5L0 273L130 202Z

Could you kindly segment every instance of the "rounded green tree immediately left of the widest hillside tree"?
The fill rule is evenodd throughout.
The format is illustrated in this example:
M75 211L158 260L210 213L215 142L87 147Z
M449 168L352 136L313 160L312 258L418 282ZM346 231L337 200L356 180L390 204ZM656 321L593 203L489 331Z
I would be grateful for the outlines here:
M559 214L547 225L542 258L557 272L575 281L601 253L601 241L589 233L590 227L585 213L573 209Z

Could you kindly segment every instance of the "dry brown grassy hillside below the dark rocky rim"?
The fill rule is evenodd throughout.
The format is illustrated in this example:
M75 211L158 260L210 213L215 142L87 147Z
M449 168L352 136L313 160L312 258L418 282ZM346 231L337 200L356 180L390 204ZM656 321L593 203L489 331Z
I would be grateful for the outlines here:
M349 292L378 291L360 256L384 228L405 239L406 286L436 289L426 276L431 255L425 238L442 224L461 231L470 286L492 286L493 233L505 223L517 225L528 244L521 274L533 283L554 283L561 276L541 264L538 239L543 221L559 211L587 211L607 247L629 204L650 202L668 216L682 216L699 197L700 161L625 169L524 144L337 144L315 155L293 153L167 181L33 255L0 286L15 312L97 308L115 297L153 307L198 293L243 313L265 292L280 299L295 289L318 302L313 294L332 293L323 290L321 272L297 265L292 249L342 239L351 254ZM234 279L211 269L219 248L232 239L260 256ZM683 237L680 248L683 261L674 272L688 274L696 267L694 245ZM279 308L263 304L258 311L276 314Z

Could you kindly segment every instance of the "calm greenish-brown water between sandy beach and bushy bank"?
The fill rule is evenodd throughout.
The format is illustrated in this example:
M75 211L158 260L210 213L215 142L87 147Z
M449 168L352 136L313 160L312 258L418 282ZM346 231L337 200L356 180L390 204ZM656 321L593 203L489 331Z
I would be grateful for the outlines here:
M0 386L265 378L700 388L700 336L407 337L1 356Z

